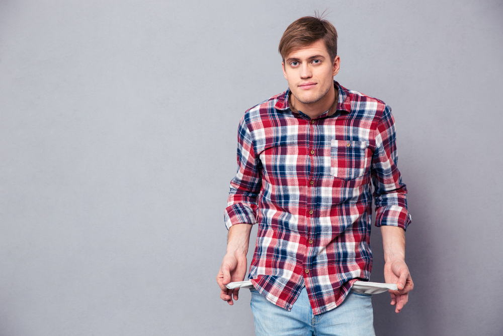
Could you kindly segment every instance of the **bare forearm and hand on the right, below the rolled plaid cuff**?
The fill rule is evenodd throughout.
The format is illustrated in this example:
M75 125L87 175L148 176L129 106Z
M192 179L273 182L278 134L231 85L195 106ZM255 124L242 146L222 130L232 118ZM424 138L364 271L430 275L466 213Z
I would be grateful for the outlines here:
M396 305L399 313L408 301L408 292L414 289L414 283L405 263L405 231L394 226L381 226L382 245L384 248L384 280L387 284L396 284L398 291L389 291L391 305Z

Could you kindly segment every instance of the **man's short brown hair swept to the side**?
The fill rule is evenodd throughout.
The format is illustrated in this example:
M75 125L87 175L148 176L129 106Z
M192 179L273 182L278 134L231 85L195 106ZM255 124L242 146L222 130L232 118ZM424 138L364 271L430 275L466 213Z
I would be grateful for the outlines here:
M283 33L278 51L285 57L295 49L305 47L319 39L325 42L328 55L333 59L337 56L337 30L333 25L323 20L319 15L305 16L295 20Z

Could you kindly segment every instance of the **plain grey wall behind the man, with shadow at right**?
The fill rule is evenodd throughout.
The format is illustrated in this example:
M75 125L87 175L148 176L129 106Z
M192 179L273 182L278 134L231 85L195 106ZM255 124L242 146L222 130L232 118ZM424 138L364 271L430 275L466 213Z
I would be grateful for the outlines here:
M2 0L0 335L254 334L215 283L237 123L325 9L409 189L415 289L374 296L377 334L503 334L501 1Z

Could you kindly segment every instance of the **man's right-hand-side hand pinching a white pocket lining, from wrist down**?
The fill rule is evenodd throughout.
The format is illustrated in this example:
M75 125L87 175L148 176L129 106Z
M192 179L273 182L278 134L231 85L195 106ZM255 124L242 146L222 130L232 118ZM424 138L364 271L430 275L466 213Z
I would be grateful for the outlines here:
M414 283L410 277L405 261L394 260L384 264L384 280L387 284L396 284L398 291L389 290L391 305L395 306L395 312L399 313L408 301L408 293L414 289Z

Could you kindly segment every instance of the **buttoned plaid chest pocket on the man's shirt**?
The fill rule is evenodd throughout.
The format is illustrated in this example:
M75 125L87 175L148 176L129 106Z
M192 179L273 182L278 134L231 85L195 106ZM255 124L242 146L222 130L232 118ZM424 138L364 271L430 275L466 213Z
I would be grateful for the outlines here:
M330 142L330 175L343 180L361 177L370 164L367 141L334 140Z

